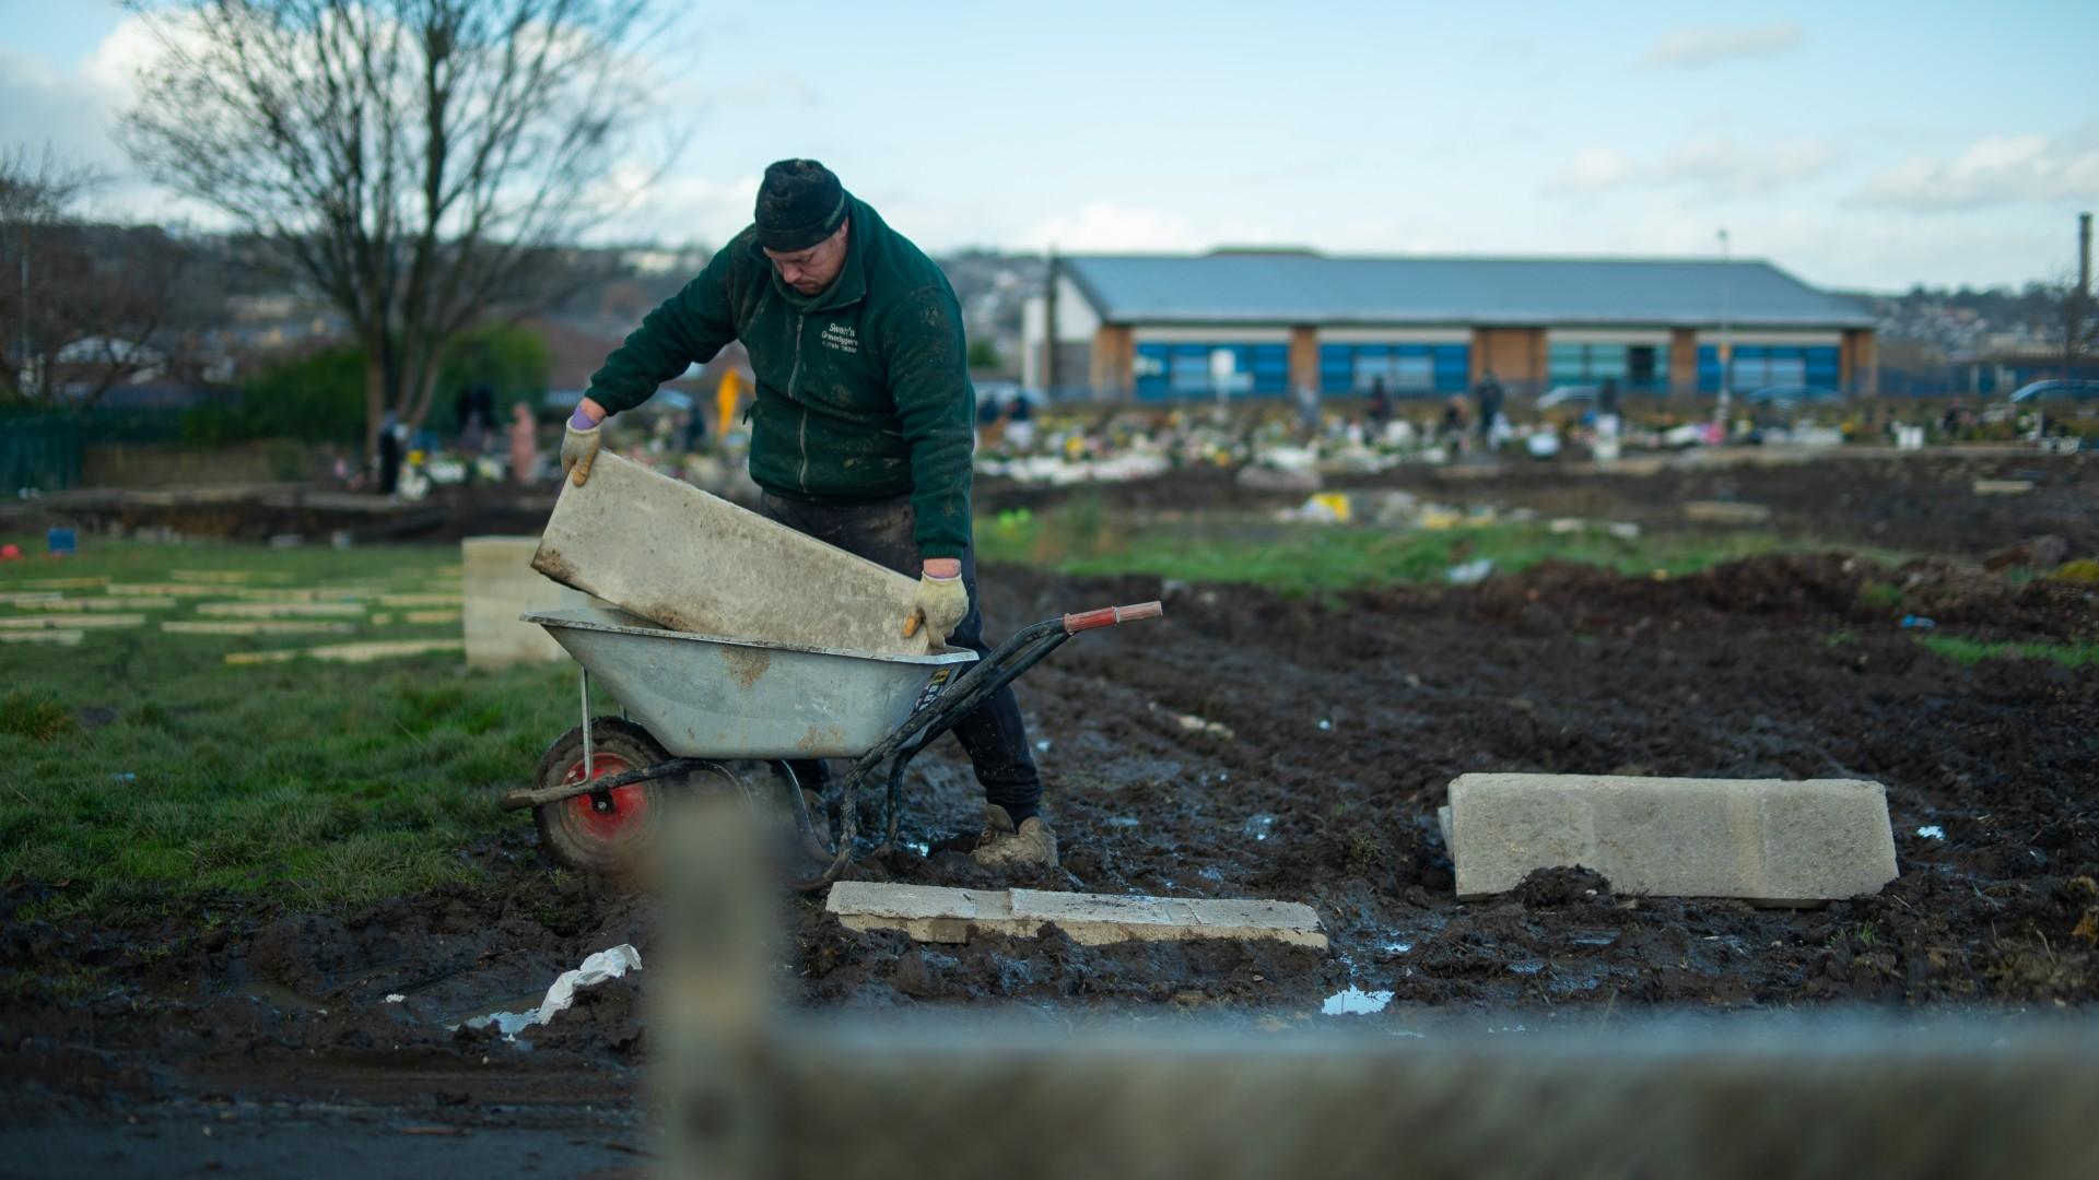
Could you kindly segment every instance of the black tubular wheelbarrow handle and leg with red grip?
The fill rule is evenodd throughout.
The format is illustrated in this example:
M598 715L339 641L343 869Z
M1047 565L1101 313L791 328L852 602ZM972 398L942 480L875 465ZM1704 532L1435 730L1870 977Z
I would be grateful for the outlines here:
M1131 624L1140 619L1157 619L1165 615L1165 607L1159 603L1136 603L1129 607L1102 607L1098 611L1081 611L1077 615L1058 615L1054 619L1043 619L1039 624L1029 624L1005 638L991 655L976 661L974 668L961 674L945 693L932 697L919 705L911 716L890 731L873 750L863 754L854 764L846 781L840 783L840 831L838 850L831 863L814 878L789 880L787 884L802 890L814 892L838 880L838 873L852 863L852 840L858 834L858 794L861 787L890 762L888 775L888 823L882 846L875 852L886 852L896 844L896 823L903 813L903 781L905 766L911 758L926 747L934 737L940 737L949 729L970 716L984 697L997 693L999 689L1012 684L1029 668L1035 668L1052 651L1064 647L1064 642L1087 630L1112 628L1117 624ZM802 829L806 838L814 836L814 825L808 819L808 808L802 802L802 792L793 794L796 827Z

